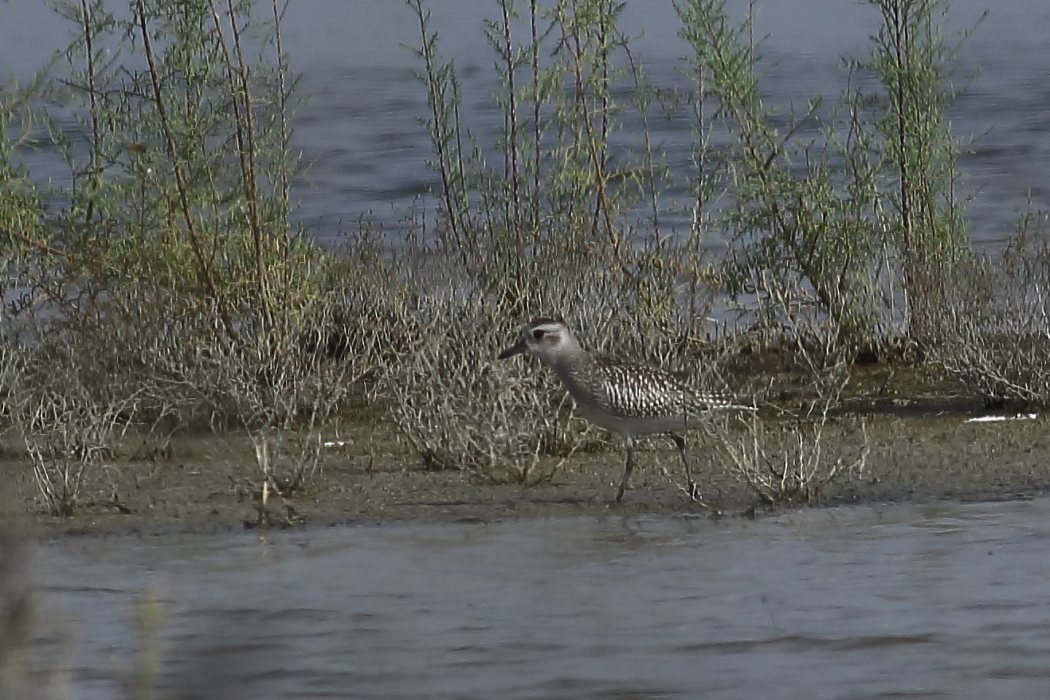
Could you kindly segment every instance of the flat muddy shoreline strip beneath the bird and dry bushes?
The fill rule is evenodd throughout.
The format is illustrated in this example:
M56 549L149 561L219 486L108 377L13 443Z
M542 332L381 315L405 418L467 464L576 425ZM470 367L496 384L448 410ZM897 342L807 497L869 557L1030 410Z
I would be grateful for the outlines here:
M869 453L860 478L826 488L820 505L941 500L1028 499L1050 492L1047 420L967 423L969 410L886 410L867 406ZM903 412L904 415L895 415ZM1013 411L996 411L1010 415ZM863 444L857 415L828 422L822 449L850 459ZM328 438L327 438L328 439ZM472 483L458 471L427 471L419 458L381 421L331 436L323 470L294 497L268 497L260 507L254 449L246 437L212 433L172 440L150 459L114 460L85 483L76 515L44 514L33 467L4 444L0 473L8 485L0 500L7 527L43 537L63 535L197 533L245 528L324 527L393 522L491 522L571 515L640 514L746 517L772 512L757 502L717 449L691 436L694 469L706 501L690 502L671 443L647 441L638 452L623 504L611 503L623 469L623 451L576 454L542 465L549 482ZM561 462L559 464L559 462ZM780 509L782 510L783 507Z

